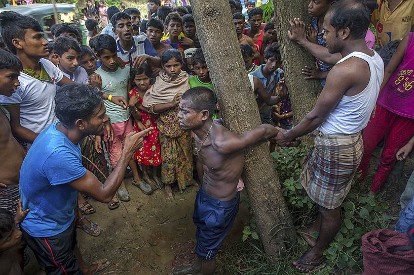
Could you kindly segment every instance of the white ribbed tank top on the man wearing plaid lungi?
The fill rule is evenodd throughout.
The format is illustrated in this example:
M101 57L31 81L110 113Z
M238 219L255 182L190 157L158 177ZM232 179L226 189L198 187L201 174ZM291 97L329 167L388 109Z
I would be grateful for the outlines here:
M318 129L322 133L353 134L368 124L384 78L384 62L379 54L375 51L373 53L371 57L361 52L353 52L336 63L344 62L351 57L363 59L369 65L370 77L368 85L361 93L352 97L342 96L341 101L319 126Z

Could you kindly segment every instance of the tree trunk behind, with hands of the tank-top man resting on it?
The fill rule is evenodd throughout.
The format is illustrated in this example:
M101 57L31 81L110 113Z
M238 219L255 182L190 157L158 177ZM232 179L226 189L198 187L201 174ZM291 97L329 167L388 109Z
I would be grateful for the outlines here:
M276 31L295 125L313 109L321 90L319 80L305 80L300 73L306 65L315 67L315 58L287 36L287 31L291 29L289 20L294 17L310 23L308 4L309 0L273 0ZM304 138L309 141L309 138Z

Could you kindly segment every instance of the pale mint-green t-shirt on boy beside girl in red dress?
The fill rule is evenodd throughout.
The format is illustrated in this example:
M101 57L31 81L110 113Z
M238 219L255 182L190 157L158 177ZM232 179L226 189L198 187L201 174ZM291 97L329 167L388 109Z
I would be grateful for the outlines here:
M102 91L105 94L112 96L121 96L128 100L128 81L129 81L129 66L124 69L118 68L115 72L106 72L100 67L95 72L102 78ZM106 114L110 118L111 123L118 123L127 121L130 112L124 110L121 106L116 105L108 100L103 101L106 107Z

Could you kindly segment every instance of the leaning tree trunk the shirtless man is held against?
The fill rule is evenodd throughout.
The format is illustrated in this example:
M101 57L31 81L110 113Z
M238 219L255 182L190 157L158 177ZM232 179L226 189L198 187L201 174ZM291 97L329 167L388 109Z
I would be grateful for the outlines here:
M258 108L240 52L229 2L191 0L191 6L225 126L236 133L258 126ZM285 252L285 242L294 241L292 219L267 143L259 143L246 150L243 179L266 253L277 256L279 252Z

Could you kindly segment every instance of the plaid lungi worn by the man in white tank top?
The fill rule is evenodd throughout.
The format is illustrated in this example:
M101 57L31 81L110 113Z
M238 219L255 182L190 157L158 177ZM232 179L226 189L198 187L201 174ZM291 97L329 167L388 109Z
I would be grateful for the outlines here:
M340 207L351 189L363 149L360 132L316 134L315 145L300 173L300 183L308 196L325 208Z

